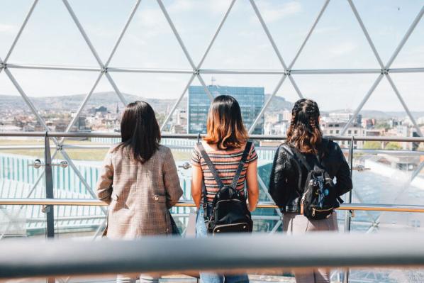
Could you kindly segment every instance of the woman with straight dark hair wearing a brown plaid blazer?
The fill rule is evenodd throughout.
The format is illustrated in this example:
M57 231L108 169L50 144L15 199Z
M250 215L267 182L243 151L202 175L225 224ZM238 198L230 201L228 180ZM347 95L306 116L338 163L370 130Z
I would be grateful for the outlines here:
M96 185L97 196L108 204L106 236L134 239L171 234L168 209L183 192L172 152L160 145L152 107L143 101L128 104L121 135L122 142L108 151Z

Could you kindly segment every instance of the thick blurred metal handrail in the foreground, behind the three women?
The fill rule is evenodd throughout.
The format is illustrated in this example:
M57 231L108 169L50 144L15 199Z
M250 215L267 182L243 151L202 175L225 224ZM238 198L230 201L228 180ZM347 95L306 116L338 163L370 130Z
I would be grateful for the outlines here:
M241 248L240 248L241 247ZM249 248L242 248L249 247ZM199 270L424 266L422 233L222 235L0 242L0 278ZM205 251L208 251L207 256Z

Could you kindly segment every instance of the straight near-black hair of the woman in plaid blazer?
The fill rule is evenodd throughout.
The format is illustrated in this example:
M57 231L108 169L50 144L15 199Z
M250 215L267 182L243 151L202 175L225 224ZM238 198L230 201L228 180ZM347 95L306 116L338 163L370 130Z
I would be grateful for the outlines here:
M131 160L141 163L150 160L160 143L160 128L152 106L134 101L123 111L121 120L122 141L116 147L128 150Z

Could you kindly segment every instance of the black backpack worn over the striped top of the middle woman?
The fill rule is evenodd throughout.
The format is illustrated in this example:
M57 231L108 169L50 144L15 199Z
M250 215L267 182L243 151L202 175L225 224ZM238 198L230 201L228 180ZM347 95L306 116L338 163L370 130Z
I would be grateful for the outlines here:
M247 209L246 198L242 196L237 189L238 179L243 167L245 166L247 155L252 147L252 142L246 143L246 148L242 154L242 158L238 165L238 169L230 185L224 185L221 178L218 176L211 159L203 148L201 143L198 143L199 150L203 159L208 165L209 170L213 174L213 178L218 184L219 191L215 195L212 203L212 211L208 218L208 200L206 197L206 187L203 186L203 209L205 210L205 222L208 222L207 228L209 233L228 233L228 232L252 232L253 221L249 209Z

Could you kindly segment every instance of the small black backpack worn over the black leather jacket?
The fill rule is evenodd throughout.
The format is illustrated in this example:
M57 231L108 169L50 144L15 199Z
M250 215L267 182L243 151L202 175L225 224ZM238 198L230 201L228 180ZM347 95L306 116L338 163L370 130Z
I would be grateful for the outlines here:
M318 161L318 163L314 162L312 168L306 160L306 157L296 148L289 145L283 145L283 148L294 157L294 160L296 160L298 164L300 162L306 167L306 170L308 170L308 176L302 188L302 170L300 165L298 166L299 189L303 189L300 201L301 214L311 220L320 220L330 217L334 209L337 209L337 207L343 203L343 200L340 196L337 196L333 178L330 177L330 174L328 174L321 165L320 156L316 156L316 161Z

